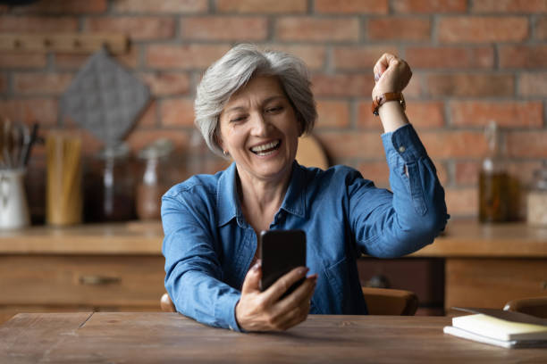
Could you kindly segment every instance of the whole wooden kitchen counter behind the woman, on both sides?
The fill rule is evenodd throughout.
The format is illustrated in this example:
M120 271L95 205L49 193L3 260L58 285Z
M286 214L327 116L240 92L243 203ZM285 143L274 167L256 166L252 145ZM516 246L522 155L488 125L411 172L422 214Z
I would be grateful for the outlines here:
M159 223L0 231L0 323L16 312L160 310ZM501 308L547 295L547 228L450 221L431 245L397 260L358 261L361 282L388 277L417 293L418 312Z

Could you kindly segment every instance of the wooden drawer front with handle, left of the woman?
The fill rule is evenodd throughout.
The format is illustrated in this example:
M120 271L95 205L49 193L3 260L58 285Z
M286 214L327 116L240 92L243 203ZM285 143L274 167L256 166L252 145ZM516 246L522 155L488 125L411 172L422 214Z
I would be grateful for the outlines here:
M157 307L164 277L162 256L4 255L0 304Z

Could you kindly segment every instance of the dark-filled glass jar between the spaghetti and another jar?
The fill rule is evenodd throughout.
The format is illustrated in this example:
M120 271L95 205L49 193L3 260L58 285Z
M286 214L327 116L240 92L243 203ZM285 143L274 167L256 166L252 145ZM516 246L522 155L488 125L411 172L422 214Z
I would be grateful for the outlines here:
M135 219L134 163L125 143L108 145L86 173L86 220Z

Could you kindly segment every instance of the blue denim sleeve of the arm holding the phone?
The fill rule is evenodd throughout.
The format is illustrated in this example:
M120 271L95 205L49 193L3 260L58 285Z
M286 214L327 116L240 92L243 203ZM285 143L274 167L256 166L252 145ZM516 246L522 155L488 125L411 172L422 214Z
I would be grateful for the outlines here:
M235 305L240 291L223 283L209 210L191 190L162 198L165 289L182 314L214 327L240 331Z

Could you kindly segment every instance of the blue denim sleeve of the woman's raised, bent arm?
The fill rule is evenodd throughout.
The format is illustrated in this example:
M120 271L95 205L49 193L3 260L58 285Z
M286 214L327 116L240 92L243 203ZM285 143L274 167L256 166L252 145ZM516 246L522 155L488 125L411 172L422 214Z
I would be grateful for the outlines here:
M349 184L349 211L363 252L392 258L433 243L450 217L436 169L412 125L385 133L382 140L391 192L355 178Z

